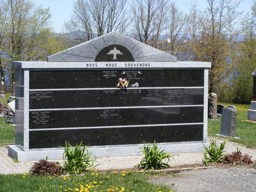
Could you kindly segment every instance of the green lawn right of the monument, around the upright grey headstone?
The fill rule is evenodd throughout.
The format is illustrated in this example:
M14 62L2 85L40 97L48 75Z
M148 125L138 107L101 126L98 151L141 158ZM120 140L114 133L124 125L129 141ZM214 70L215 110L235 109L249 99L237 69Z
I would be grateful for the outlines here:
M223 104L228 107L228 105L236 106L236 110L238 111L237 118L237 132L236 137L240 139L231 139L229 141L234 141L247 147L256 147L256 123L246 122L247 120L247 110L250 109L249 104L234 104L234 103L218 103ZM221 130L221 117L217 117L220 121L212 121L208 119L208 136L212 137L215 134L220 134ZM224 137L223 137L224 138Z

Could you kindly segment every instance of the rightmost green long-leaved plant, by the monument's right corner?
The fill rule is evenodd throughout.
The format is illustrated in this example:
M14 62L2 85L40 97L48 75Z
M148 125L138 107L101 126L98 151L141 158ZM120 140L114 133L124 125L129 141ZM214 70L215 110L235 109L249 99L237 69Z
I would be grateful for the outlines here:
M227 139L221 143L221 146L217 146L216 144L216 138L215 138L215 141L214 139L211 139L209 141L210 143L210 146L209 148L207 148L207 146L203 146L205 152L204 152L204 157L203 157L203 163L204 164L208 164L208 163L219 163L219 162L222 162L222 159L226 156L226 154L223 154L225 153L224 151L224 147L225 147L225 144L227 142Z

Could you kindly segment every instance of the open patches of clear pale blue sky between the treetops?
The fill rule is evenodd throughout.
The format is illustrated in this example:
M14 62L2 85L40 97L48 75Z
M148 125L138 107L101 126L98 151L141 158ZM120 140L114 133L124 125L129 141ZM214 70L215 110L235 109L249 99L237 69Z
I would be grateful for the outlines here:
M233 0L238 1L238 0ZM50 8L52 13L51 22L53 23L52 27L54 28L55 32L59 33L62 30L62 26L64 20L67 22L72 14L73 9L73 1L72 0L34 0L33 2L36 5L42 5L43 8ZM188 13L188 6L190 3L194 2L194 0L177 0L176 6L178 9L182 10L184 13ZM198 0L198 9L205 10L207 7L206 0ZM253 4L253 0L242 0L238 11L244 11L247 13L250 11L250 7Z

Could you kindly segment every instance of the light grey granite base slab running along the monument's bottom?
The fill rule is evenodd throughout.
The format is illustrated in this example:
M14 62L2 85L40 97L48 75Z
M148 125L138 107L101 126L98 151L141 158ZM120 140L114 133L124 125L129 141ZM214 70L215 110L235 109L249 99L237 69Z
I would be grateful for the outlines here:
M204 143L205 146L209 147L209 142ZM116 147L90 147L92 153L96 157L121 157L121 156L135 156L135 155L143 155L139 147L140 145L133 146L116 146ZM194 153L194 152L203 152L203 143L202 142L180 142L180 143L158 143L158 146L161 147L161 150L165 150L171 154L173 153ZM62 148L56 148L55 150L51 148L51 150L36 150L36 151L28 151L24 152L20 150L16 145L8 146L8 154L17 158L18 161L38 161L38 159L46 159L48 160L59 160L62 159L63 155Z

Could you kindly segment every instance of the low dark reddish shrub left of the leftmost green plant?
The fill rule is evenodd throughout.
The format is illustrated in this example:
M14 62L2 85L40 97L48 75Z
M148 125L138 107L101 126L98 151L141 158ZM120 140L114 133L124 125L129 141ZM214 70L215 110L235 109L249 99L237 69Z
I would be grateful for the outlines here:
M59 175L61 174L61 167L58 165L59 162L49 162L41 159L39 162L35 162L31 167L31 175Z

